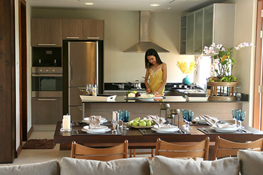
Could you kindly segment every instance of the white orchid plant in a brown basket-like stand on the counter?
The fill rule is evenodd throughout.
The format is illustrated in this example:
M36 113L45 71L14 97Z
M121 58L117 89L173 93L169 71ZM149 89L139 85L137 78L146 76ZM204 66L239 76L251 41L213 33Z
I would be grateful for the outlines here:
M210 101L236 100L236 97L234 97L234 87L238 86L238 78L231 73L236 64L233 54L241 48L253 46L253 43L240 43L237 47L229 48L222 44L213 43L209 48L208 46L203 48L201 57L203 55L212 55L211 73L208 80L208 86L211 87L208 97Z

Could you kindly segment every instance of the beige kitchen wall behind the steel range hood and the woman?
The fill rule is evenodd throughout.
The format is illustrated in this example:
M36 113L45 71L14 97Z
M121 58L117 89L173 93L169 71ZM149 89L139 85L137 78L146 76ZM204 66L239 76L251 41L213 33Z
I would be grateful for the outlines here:
M32 8L32 18L86 18L104 20L104 82L144 81L144 53L123 52L139 41L139 11L67 10ZM160 53L168 64L168 82L182 82L184 75L177 61L192 61L194 56L179 54L180 15L151 13L151 41L170 53ZM193 78L191 76L191 78Z

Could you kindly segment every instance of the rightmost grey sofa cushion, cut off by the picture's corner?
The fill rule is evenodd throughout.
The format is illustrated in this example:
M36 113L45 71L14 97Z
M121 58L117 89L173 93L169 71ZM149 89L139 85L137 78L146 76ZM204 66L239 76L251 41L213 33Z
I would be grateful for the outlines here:
M241 174L263 174L263 152L240 150L238 159L241 166Z

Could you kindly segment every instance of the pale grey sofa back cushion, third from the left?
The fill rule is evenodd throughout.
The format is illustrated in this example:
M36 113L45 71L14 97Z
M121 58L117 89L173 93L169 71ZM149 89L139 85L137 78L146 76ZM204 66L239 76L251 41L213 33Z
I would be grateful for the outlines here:
M239 174L238 158L223 158L214 161L194 161L166 158L161 155L152 159L154 175L163 174Z

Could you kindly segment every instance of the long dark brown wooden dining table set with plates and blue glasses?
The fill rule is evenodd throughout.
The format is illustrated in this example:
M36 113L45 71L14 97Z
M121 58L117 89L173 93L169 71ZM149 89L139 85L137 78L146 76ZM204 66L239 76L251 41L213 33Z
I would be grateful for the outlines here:
M227 123L234 123L233 120L226 121ZM70 132L61 132L62 122L58 122L55 128L54 142L60 144L60 150L70 150L72 141L78 144L89 146L93 148L107 148L116 146L128 140L129 149L149 149L155 148L156 140L160 138L163 141L177 144L192 144L203 141L206 137L210 138L210 149L213 149L217 136L236 142L255 141L263 137L263 132L248 125L243 125L242 130L234 132L216 132L210 125L191 123L190 130L185 130L180 121L177 132L173 133L158 133L151 128L134 128L128 127L129 130L123 130L121 127L116 129L116 132L104 132L102 134L90 134L83 131L83 127L88 125L82 121L72 121L72 130ZM103 123L112 129L112 123Z

